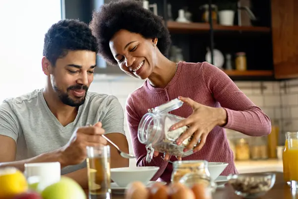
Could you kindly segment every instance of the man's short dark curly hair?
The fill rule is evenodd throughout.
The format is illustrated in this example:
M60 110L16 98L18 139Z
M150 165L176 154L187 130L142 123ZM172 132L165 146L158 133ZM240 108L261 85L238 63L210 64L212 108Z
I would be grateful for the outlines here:
M88 50L97 53L96 38L88 25L76 19L63 19L53 24L44 39L43 56L55 66L70 50Z

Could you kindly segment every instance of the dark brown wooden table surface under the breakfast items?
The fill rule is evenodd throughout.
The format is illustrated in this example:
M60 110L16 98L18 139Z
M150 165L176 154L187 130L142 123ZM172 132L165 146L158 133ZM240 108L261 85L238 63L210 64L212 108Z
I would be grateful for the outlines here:
M273 172L276 174L276 182L273 188L266 195L258 199L298 199L298 191L294 192L283 180L282 172ZM86 193L88 191L86 190ZM112 194L112 199L124 199L124 195ZM218 188L213 194L213 199L241 199L234 194L230 185L226 184L224 188Z

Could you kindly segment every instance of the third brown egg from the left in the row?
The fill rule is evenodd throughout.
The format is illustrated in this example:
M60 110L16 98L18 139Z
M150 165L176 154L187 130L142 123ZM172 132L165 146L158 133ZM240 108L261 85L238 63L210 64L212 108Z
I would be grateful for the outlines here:
M173 183L170 186L170 199L195 199L195 195L181 183Z

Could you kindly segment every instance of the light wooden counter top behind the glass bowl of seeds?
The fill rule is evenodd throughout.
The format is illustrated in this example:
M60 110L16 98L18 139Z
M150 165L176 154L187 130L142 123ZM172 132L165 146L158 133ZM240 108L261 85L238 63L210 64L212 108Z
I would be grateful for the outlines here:
M283 172L283 161L277 159L235 161L239 173Z

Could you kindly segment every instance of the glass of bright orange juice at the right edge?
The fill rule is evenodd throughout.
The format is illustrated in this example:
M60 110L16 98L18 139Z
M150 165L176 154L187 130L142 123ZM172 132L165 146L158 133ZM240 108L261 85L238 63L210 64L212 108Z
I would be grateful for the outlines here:
M291 182L291 188L298 188L298 132L287 132L283 154L284 179Z

